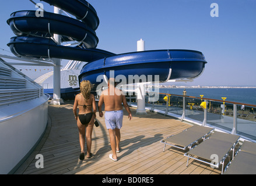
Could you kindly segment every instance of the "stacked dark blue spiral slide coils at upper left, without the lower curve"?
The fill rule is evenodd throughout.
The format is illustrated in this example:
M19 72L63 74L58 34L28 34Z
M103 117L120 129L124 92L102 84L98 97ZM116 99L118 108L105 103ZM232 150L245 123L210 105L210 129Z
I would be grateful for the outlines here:
M114 53L96 49L99 39L95 30L99 26L97 13L87 1L45 1L75 15L71 17L44 12L38 17L34 10L13 12L7 20L17 37L10 39L8 46L16 56L27 58L59 58L91 62L113 56ZM82 15L85 14L85 15ZM67 47L57 45L50 37L62 35L62 41L78 41L82 45Z

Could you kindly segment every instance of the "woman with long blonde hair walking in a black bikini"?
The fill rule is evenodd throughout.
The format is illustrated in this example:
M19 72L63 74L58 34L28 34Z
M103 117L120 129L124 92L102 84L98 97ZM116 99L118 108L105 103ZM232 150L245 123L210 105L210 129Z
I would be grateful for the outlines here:
M85 159L85 137L87 158L92 157L92 153L90 152L90 150L92 147L92 131L97 109L94 95L90 94L91 88L92 85L90 81L82 81L80 83L81 93L76 95L73 105L73 113L75 115L79 131L79 142L81 148L81 153L79 156L80 160ZM79 109L78 114L76 113L77 108Z

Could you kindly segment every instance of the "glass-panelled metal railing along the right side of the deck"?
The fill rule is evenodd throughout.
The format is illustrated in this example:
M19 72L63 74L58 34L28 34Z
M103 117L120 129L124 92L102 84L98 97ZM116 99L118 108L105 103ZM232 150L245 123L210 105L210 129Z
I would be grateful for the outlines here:
M157 102L150 101L150 96L146 96L146 109L152 112L162 112L181 121L212 126L256 141L256 105L188 95L148 93L159 94ZM130 105L136 105L135 97L128 96L127 99ZM200 106L202 102L205 109Z

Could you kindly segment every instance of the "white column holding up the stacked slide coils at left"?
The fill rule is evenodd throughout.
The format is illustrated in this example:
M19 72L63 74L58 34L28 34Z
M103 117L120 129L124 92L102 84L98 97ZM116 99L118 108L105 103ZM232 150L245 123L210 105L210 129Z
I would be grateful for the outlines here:
M54 13L61 14L61 9L54 6ZM61 35L54 34L54 39L58 45L61 45ZM50 56L51 57L51 56ZM64 103L61 99L61 59L53 58L54 72L53 72L53 99L50 104L61 105Z

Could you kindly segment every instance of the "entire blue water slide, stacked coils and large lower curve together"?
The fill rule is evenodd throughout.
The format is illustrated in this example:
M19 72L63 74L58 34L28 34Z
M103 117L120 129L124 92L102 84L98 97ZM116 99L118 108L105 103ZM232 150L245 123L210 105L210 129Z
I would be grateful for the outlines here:
M129 77L135 75L151 75L152 81L159 76L157 80L161 83L167 80L196 78L204 71L207 62L199 51L167 49L115 55L96 49L99 40L95 30L99 26L99 18L92 5L85 0L43 1L71 13L81 21L49 12L44 12L44 17L37 17L36 11L32 10L12 13L7 23L18 36L11 38L8 45L16 56L89 62L83 66L79 81L90 80L94 85L99 85L106 77L112 77L113 71L115 78L125 77L126 82L122 83L129 83ZM49 38L52 34L64 36L62 40L71 37L72 40L81 41L82 48L81 45L57 45ZM99 81L97 77L100 76L104 76L104 80L101 78Z

